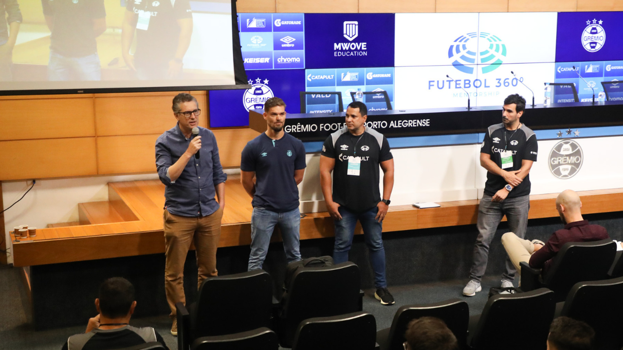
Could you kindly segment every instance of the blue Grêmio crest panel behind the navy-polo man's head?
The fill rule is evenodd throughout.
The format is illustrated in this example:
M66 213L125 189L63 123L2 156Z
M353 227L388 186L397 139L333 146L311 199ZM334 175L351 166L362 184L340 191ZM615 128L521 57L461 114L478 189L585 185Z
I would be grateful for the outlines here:
M271 97L282 98L287 113L300 113L299 92L305 90L305 70L247 70L250 89L209 92L210 126L249 125L249 110L261 110Z

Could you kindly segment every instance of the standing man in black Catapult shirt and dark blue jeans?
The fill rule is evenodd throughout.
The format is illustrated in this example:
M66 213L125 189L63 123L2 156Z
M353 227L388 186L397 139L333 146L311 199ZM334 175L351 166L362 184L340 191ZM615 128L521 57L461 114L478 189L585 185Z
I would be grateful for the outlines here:
M326 209L335 219L333 260L335 263L348 260L354 228L359 220L374 270L374 297L383 305L391 305L394 298L387 288L381 234L394 187L394 157L387 138L366 126L367 118L368 108L363 102L348 105L346 127L332 133L322 146L320 184ZM379 165L383 169L382 198L379 192Z

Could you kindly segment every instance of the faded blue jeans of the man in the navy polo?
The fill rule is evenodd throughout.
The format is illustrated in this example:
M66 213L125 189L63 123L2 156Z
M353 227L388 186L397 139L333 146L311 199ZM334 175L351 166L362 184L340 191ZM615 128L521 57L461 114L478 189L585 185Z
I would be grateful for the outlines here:
M301 260L299 248L299 230L301 214L297 209L289 212L272 212L255 207L251 214L251 254L249 255L249 271L262 268L269 250L270 236L275 225L279 225L283 239L283 250L288 263Z

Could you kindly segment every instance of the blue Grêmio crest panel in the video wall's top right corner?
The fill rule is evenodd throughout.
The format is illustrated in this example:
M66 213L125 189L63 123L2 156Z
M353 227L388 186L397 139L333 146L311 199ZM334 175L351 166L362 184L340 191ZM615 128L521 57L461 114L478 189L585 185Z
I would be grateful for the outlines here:
M623 12L559 12L556 62L623 58Z

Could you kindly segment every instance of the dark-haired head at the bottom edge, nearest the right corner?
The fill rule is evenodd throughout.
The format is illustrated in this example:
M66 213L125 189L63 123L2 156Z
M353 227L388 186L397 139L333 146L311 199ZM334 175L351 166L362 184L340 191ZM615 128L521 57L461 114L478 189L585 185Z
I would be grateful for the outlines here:
M595 331L588 324L561 316L549 327L549 350L591 350Z

